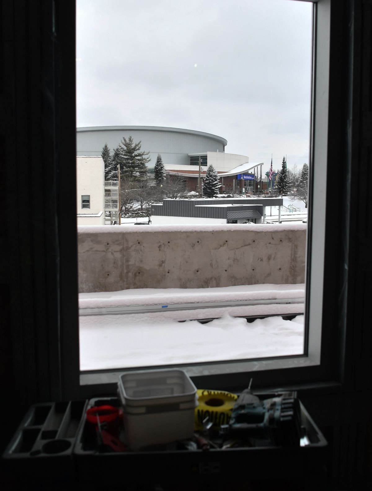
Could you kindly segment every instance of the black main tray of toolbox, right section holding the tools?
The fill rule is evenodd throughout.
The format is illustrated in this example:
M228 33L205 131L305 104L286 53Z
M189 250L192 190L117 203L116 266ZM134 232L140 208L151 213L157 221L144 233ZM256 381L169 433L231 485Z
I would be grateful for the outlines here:
M256 393L260 399L273 397L273 393ZM87 409L110 405L120 407L120 401L116 397L97 398L89 401ZM158 449L142 450L137 452L110 452L100 451L97 438L92 436L90 423L86 421L84 414L80 425L76 443L74 446L74 457L76 468L80 478L87 481L104 483L105 476L110 475L111 482L117 484L122 482L121 473L118 468L130 469L125 473L126 483L138 482L141 478L164 480L175 482L180 476L182 481L193 480L200 474L223 478L241 476L247 478L247 465L250 476L261 476L265 478L278 478L278 476L291 476L295 479L303 475L312 474L316 476L319 469L323 467L323 449L327 445L322 433L317 428L306 409L300 403L301 426L305 430L308 444L301 447L237 447L228 449L203 450L176 450L175 447L162 446ZM97 460L99 459L99 461ZM242 463L247 464L242 464ZM105 472L102 473L102 468ZM144 473L144 469L146 469ZM263 474L262 474L263 473Z

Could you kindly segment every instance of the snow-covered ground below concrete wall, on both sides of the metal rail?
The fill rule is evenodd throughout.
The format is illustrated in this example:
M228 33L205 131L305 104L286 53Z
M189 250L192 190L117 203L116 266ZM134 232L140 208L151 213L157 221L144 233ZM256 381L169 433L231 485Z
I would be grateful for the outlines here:
M205 291L207 290L207 291ZM136 293L136 295L135 295ZM98 370L196 363L303 353L303 315L292 321L278 314L303 312L303 304L278 305L275 298L301 298L304 285L127 290L80 294L80 308L271 298L272 305L200 308L126 315L80 317L80 369ZM171 300L171 301L169 301ZM248 323L236 316L273 315ZM217 318L208 324L196 319ZM192 319L192 320L189 320ZM181 321L181 322L180 322ZM185 322L182 322L185 321Z

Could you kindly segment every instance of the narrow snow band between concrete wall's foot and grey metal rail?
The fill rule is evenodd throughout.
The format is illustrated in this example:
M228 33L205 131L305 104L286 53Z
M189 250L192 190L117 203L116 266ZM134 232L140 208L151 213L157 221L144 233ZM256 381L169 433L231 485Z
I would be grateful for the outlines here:
M79 308L172 305L239 300L303 299L305 285L241 285L214 288L141 288L80 293Z

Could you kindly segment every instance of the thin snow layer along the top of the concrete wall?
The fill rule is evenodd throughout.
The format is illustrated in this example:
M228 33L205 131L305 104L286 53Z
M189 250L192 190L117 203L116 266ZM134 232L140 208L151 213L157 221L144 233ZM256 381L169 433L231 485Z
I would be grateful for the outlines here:
M79 234L133 233L133 232L283 232L306 230L306 223L260 223L260 224L205 224L205 225L78 225Z

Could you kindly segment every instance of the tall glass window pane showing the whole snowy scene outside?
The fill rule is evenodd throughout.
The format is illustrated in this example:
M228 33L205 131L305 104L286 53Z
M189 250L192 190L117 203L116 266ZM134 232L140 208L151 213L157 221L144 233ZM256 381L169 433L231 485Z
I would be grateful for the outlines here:
M303 353L311 36L309 2L77 0L82 369Z

